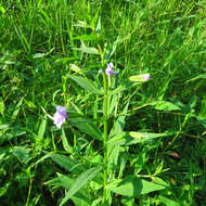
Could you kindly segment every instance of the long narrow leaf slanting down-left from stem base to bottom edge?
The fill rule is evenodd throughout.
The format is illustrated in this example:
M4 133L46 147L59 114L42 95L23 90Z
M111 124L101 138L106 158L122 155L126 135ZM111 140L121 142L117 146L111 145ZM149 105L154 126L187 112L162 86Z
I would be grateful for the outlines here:
M62 199L60 206L64 205L75 193L77 193L85 184L92 180L95 175L101 170L100 167L93 167L82 172L74 182L65 197Z

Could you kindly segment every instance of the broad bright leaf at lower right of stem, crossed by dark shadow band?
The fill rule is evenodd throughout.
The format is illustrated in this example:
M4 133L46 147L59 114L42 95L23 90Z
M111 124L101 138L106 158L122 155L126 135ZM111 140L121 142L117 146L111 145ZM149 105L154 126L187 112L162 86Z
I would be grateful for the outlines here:
M164 190L165 186L137 178L136 176L129 176L118 183L113 182L108 184L106 189L120 195L139 196L140 194Z

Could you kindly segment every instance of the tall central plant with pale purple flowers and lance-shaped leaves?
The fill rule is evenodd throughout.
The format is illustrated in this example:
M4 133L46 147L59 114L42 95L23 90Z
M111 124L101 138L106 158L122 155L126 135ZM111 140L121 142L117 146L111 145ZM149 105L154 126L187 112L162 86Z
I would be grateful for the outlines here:
M96 34L95 29L92 29L93 33L96 35L96 38L99 38L100 33ZM101 67L99 68L99 74L101 74L103 78L100 78L99 82L102 82L103 89L102 87L98 87L96 82L88 78L82 72L82 69L80 69L75 64L72 64L70 69L76 74L67 75L67 77L70 80L75 81L90 95L98 96L98 101L94 103L94 118L86 118L83 112L79 110L77 105L74 104L73 105L77 112L75 117L73 117L72 114L69 114L69 112L66 111L66 107L64 106L56 106L56 112L53 115L53 117L48 115L50 118L53 119L54 125L59 129L61 128L61 139L63 147L66 151L66 153L69 154L69 157L62 154L49 154L47 157L51 157L56 164L66 168L66 170L69 171L69 173L74 172L74 177L78 176L75 182L66 176L59 177L61 182L64 182L66 180L72 184L72 186L66 188L65 184L59 182L59 185L63 185L65 189L67 189L66 195L61 201L60 206L64 205L69 198L73 197L73 201L75 202L75 198L77 197L77 192L78 194L82 195L81 201L83 201L83 198L87 199L83 202L86 205L88 203L89 205L92 205L94 204L94 202L96 202L98 204L101 203L105 206L112 205L112 196L114 193L130 196L140 194L141 189L138 188L137 190L134 188L136 185L133 185L133 182L136 182L138 186L142 185L143 188L149 188L149 190L146 192L142 192L142 194L164 189L163 185L139 179L136 176L127 177L123 180L120 173L123 171L120 171L118 165L118 160L120 158L119 154L121 153L121 151L125 151L125 147L131 144L137 144L141 142L142 139L150 140L151 138L166 136L165 133L158 134L138 131L124 131L126 116L128 114L129 101L125 103L123 113L117 114L117 106L118 103L121 101L121 95L119 94L123 93L124 90L129 89L129 87L136 87L137 82L144 83L145 81L149 81L151 79L151 75L149 73L134 75L128 79L130 80L130 83L123 81L120 86L111 87L112 82L115 80L113 76L119 74L118 76L116 76L116 78L120 78L123 74L119 70L114 70L115 66L113 62L108 63L108 60L112 59L113 53L108 52L106 49L103 49L99 42L96 44L96 48L87 48L83 44L83 47L81 47L80 49L78 48L78 50L80 50L81 52L100 55ZM103 103L99 102L99 96L101 96L100 99L103 100ZM101 105L102 117L99 117L98 107ZM75 128L72 129L72 131L74 132L74 146L69 145L69 141L66 138L63 127L63 124L68 117L67 113L69 114L69 127ZM100 125L98 125L98 123L100 123ZM102 127L103 129L101 130ZM94 142L98 142L95 143L95 145L101 145L101 149L99 149L101 152L96 152L98 155L93 159L88 160L87 157L83 157L87 163L86 166L82 166L81 162L77 160L75 157L77 151L79 150L76 149L76 137L78 136L79 131L83 133L83 137L87 138L88 136L92 138ZM93 141L89 141L90 147ZM89 147L87 149L87 151L89 151ZM77 157L78 156L79 154L77 154ZM119 177L116 177L115 173L118 172ZM91 181L94 182L94 185L98 188L98 194L102 194L100 195L100 198L95 199L94 202L91 202L90 199L88 199L88 196L85 195L85 193L81 193L81 191L83 191L83 186Z

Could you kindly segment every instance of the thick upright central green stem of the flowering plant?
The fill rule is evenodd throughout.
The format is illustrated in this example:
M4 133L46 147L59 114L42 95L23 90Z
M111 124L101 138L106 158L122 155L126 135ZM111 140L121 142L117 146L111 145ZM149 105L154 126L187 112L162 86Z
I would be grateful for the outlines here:
M106 202L106 184L107 184L107 137L108 137L108 114L107 114L107 106L108 106L108 96L107 96L107 79L106 75L103 72L103 81L104 81L104 196L103 196L103 202Z

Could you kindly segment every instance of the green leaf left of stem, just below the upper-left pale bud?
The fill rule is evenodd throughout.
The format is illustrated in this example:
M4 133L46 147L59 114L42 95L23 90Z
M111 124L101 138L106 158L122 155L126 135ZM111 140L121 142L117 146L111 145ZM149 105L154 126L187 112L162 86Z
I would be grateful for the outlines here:
M76 81L80 87L82 87L87 91L91 91L96 94L103 94L101 90L99 90L95 85L90 81L89 79L86 79L83 77L78 77L78 76L72 76L68 75L69 78L72 78L74 81Z

